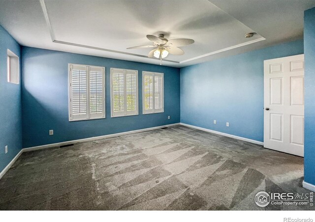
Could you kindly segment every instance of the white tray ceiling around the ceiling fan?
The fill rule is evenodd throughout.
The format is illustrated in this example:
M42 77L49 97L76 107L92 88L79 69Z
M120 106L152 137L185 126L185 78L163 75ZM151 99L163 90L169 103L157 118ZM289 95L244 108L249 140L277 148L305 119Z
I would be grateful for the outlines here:
M146 35L192 38L185 67L303 38L303 12L315 0L1 0L0 24L22 45L159 64ZM249 32L257 33L245 38Z

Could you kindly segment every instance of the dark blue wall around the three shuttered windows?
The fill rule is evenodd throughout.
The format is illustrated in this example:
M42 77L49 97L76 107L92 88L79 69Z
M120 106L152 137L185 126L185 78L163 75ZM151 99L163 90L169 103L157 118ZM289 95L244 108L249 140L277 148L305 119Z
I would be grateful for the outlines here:
M180 122L177 68L30 47L21 53L23 148ZM105 119L68 121L68 63L105 67ZM138 70L139 115L110 117L110 68ZM142 71L164 73L164 113L142 114Z

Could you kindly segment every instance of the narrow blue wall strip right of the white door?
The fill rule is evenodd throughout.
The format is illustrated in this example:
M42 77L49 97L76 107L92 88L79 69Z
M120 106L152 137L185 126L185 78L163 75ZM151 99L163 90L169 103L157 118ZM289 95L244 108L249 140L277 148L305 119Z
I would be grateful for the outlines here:
M304 12L304 181L315 185L315 8Z

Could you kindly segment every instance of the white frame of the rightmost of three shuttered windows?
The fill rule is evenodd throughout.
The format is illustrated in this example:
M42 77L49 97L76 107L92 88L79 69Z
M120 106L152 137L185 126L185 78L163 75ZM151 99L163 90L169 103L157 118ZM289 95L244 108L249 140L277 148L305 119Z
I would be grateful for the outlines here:
M155 74L158 75L162 75L162 108L156 110L155 109L155 84L154 84L154 78L155 78ZM153 109L152 110L145 110L145 103L144 103L144 76L145 75L152 75L153 79ZM143 114L152 114L152 113L161 113L164 112L164 74L163 73L155 73L155 72L147 72L147 71L143 71L142 72L142 113Z

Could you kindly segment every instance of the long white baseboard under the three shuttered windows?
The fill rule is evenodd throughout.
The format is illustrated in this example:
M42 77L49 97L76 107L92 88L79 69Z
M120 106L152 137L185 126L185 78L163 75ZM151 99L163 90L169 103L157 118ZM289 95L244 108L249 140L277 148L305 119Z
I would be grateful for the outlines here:
M47 145L43 145L43 146L23 148L23 152L28 152L28 151L38 150L38 149L45 149L45 148L52 148L52 147L60 147L60 146L68 145L68 144L76 144L76 143L82 143L82 142L87 142L87 141L92 141L92 140L101 140L101 139L105 139L105 138L118 137L118 136L122 136L122 135L126 135L126 134L132 134L132 133L141 133L141 132L160 129L160 128L164 128L164 127L176 126L179 124L180 123L174 123L174 124L169 124L169 125L156 126L156 127L139 129L139 130L132 130L132 131L127 131L127 132L122 132L122 133L108 134L108 135L99 136L99 137L90 137L90 138L79 139L79 140L65 141L65 142L56 143L56 144L47 144Z

